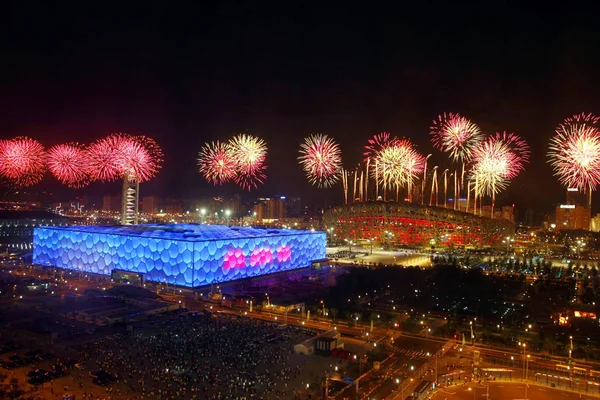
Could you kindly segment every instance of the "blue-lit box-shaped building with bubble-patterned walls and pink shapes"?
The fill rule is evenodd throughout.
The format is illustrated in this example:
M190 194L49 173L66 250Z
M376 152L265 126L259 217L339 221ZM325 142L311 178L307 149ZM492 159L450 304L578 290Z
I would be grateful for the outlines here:
M196 287L311 266L325 233L223 225L35 228L33 262L95 274L113 271Z

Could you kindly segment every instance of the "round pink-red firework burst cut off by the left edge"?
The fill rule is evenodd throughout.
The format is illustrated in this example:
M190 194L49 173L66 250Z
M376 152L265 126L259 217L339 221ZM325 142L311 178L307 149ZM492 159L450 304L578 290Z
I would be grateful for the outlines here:
M46 152L37 140L17 137L0 142L0 176L26 187L39 182L46 170Z

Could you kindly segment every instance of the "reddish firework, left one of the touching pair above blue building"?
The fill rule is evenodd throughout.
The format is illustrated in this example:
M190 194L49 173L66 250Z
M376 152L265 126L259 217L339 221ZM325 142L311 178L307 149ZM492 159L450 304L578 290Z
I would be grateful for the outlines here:
M214 185L222 185L235 178L237 163L231 146L226 143L206 143L198 153L200 173Z

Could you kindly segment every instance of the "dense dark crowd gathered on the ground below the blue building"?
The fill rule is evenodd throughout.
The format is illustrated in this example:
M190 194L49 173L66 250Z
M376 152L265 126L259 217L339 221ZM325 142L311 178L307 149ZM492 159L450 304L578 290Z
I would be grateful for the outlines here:
M105 389L131 399L301 398L290 362L302 328L237 317L185 316L129 335L88 343L88 369L115 378Z

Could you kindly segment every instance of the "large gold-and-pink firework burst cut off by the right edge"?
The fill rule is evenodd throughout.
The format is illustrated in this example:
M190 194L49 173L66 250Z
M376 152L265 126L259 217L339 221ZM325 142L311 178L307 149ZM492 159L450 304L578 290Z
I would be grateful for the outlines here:
M565 121L550 140L548 158L561 184L595 190L600 183L600 131L580 121Z

